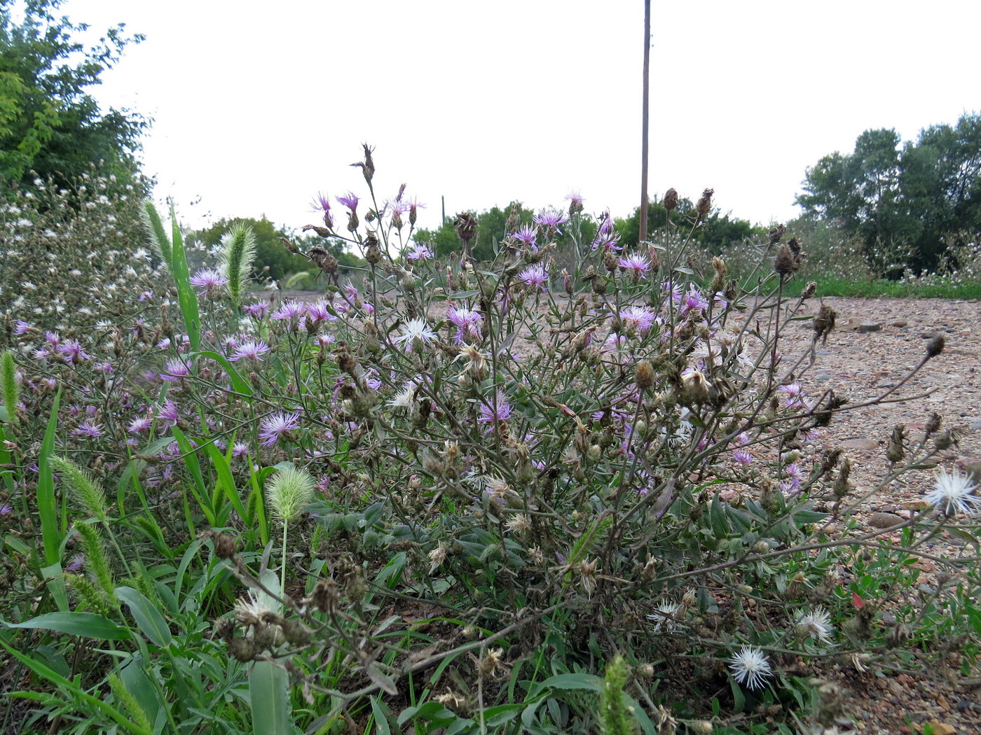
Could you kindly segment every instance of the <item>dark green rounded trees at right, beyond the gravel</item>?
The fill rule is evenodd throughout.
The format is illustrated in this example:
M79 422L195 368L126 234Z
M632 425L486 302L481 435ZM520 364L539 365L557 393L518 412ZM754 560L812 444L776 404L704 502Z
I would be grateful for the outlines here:
M922 130L866 130L851 154L809 168L797 204L862 244L869 266L898 277L935 269L955 233L981 231L981 116Z

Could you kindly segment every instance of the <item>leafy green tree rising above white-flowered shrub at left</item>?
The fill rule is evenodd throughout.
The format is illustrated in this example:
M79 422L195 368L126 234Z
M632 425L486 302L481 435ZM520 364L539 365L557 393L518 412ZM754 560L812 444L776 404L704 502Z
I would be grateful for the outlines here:
M128 111L102 113L85 90L143 36L126 35L120 24L86 49L75 36L88 26L54 15L62 2L26 0L15 23L21 3L0 0L0 179L28 182L36 174L66 183L100 161L118 176L137 168L147 121Z

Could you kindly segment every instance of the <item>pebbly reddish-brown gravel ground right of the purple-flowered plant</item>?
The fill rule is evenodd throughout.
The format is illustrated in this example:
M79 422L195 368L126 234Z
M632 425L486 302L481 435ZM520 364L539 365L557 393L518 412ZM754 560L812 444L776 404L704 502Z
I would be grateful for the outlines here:
M936 458L939 465L964 471L981 461L981 303L853 298L827 298L824 303L838 312L838 325L821 346L814 367L801 376L800 383L811 395L832 388L849 396L852 403L868 401L901 383L922 360L930 337L940 334L946 341L944 352L894 394L918 398L846 411L825 430L822 443L843 446L854 463L856 494L874 488L886 473L885 448L893 426L903 423L910 436L922 435L932 412L944 418L945 427L956 428L960 434L957 444ZM810 308L817 306L814 301ZM875 329L862 324L878 329L862 331ZM798 354L810 335L809 322L793 322L785 353ZM876 523L889 520L882 514L908 517L922 502L932 478L932 470L913 470L871 497L855 518L871 530ZM885 538L898 540L898 536ZM953 556L955 543L945 534L931 552ZM917 568L921 582L935 583L933 563L923 561ZM858 717L858 731L875 735L922 732L923 723L931 723L935 735L978 733L981 681L964 680L957 662L957 655L951 654L947 665L937 666L931 676L888 675L873 667L866 672L840 667L823 674L849 689L848 711Z

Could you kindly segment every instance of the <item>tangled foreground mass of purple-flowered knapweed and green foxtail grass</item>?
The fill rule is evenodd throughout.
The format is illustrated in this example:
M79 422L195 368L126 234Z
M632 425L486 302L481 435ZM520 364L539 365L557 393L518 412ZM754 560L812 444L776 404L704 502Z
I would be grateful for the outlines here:
M664 733L749 711L820 731L847 711L816 673L923 667L934 631L972 670L973 480L939 474L902 543L854 523L953 438L897 427L856 494L822 440L855 404L800 384L836 315L817 284L785 296L805 254L784 228L737 281L688 252L711 190L691 213L668 191L630 252L609 213L583 240L573 195L491 261L461 214L438 262L421 205L377 197L367 146L360 167L306 229L368 266L341 280L304 252L317 298L250 292L240 228L192 272L147 206L131 245L168 280L138 315L45 332L9 311L0 645L34 704L8 722ZM803 319L809 349L785 354ZM927 551L942 533L961 558ZM924 557L945 582L907 595Z

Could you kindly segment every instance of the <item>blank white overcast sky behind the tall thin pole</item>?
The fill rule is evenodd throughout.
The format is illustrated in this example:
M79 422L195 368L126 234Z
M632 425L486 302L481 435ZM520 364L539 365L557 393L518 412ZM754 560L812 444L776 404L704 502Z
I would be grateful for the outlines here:
M69 0L146 34L96 96L154 119L145 171L185 224L316 221L318 191L376 191L446 214L640 201L643 0ZM981 109L974 0L651 2L648 190L706 186L767 223L807 166L855 137ZM188 206L200 197L200 204Z

